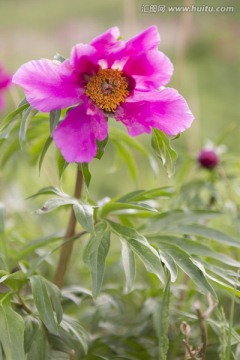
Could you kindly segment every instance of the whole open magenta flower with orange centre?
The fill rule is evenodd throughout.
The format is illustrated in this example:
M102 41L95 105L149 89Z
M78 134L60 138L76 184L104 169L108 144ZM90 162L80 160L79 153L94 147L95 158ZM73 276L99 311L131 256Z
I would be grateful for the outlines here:
M68 162L90 162L96 140L108 134L107 118L121 121L129 135L152 128L177 135L193 115L184 98L166 85L173 65L158 51L160 37L151 26L128 41L118 40L117 27L89 45L77 44L63 63L41 59L24 64L13 82L40 111L72 107L53 138Z

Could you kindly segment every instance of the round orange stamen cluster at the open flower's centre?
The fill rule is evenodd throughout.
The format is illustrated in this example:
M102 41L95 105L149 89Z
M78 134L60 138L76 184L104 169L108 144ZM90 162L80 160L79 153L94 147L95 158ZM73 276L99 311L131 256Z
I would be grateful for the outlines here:
M129 95L128 82L120 70L100 69L90 78L86 94L101 109L115 112L118 105Z

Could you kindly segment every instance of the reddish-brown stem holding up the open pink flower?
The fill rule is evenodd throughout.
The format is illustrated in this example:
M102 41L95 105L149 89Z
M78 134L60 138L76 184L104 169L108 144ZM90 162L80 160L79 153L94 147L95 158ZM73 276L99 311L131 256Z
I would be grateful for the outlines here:
M77 176L76 176L76 184L75 184L75 191L74 197L79 199L82 194L82 187L83 187L83 176L82 172L78 169ZM54 283L61 288L64 283L64 277L68 268L68 264L71 258L72 249L73 249L73 241L67 241L72 238L75 234L76 228L76 217L74 214L74 210L72 208L71 214L69 217L67 229L64 235L64 241L61 248L60 257L58 260L57 270L54 277Z

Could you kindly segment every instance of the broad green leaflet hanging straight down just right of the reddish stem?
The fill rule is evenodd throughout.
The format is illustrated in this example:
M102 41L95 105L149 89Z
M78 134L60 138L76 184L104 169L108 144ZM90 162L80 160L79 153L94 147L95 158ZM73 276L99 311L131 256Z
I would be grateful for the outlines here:
M102 286L109 246L110 231L105 223L99 223L96 226L96 235L90 238L84 251L84 260L91 270L93 297L99 294Z

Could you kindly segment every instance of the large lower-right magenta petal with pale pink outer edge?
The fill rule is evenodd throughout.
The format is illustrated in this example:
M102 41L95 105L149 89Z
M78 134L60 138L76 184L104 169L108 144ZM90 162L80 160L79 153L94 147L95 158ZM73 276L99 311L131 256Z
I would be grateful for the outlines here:
M115 118L126 125L131 136L152 128L167 135L177 135L189 128L194 117L185 99L175 90L135 91L125 103L118 107Z

